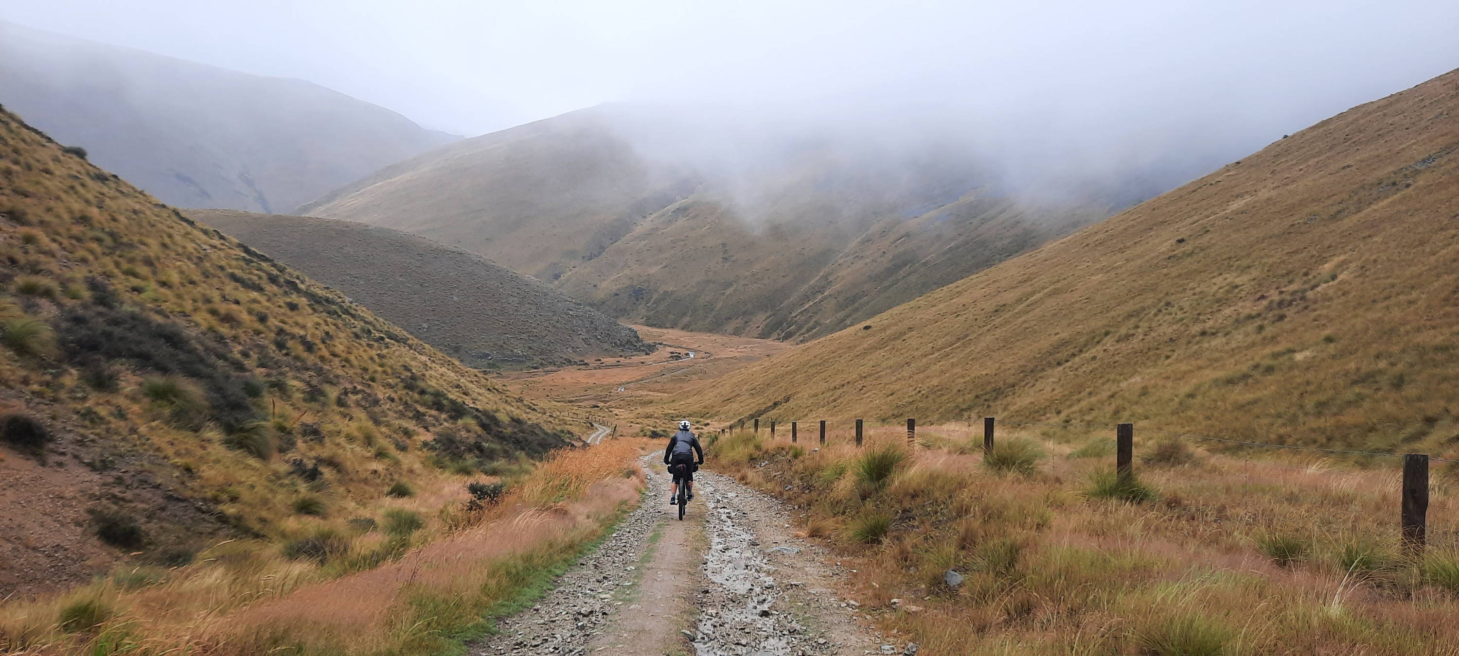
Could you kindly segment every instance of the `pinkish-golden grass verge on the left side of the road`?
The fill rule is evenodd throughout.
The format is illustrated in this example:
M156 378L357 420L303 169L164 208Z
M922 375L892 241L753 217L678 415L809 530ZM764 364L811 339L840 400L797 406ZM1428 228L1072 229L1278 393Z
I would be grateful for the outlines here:
M360 571L289 561L266 544L231 542L144 587L125 583L134 576L118 576L61 599L10 604L0 608L0 652L441 652L484 630L483 614L493 605L543 586L638 500L643 478L633 459L641 449L636 440L608 440L554 453L502 504L474 513L461 510L465 494L457 490L409 550ZM534 503L541 490L566 493ZM420 507L411 506L420 496L395 507ZM461 513L470 516L455 516ZM371 534L355 538L352 548L363 554L382 542ZM63 611L92 601L104 605L107 620L67 633Z

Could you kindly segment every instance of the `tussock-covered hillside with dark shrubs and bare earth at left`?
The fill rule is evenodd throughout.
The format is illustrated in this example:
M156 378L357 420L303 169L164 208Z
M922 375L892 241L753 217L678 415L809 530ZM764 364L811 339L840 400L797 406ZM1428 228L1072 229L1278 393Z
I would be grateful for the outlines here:
M457 488L570 437L10 112L0 262L0 598L371 525L397 483Z

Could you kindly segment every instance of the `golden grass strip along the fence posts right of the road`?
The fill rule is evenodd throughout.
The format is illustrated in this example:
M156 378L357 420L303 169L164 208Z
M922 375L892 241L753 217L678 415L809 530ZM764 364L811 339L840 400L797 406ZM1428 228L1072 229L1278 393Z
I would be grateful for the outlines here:
M862 449L849 430L818 450L763 436L747 449L756 440L741 432L712 440L711 462L802 507L802 535L826 538L858 571L861 608L925 653L1459 650L1446 620L1459 612L1449 481L1436 483L1430 504L1437 544L1412 563L1398 552L1396 459L1198 450L1183 464L1137 461L1158 496L1125 503L1087 494L1113 455L1068 458L1087 445L1085 430L1004 429L1001 439L1049 453L1014 474L980 465L980 426L970 429L922 427L945 445L918 448L883 487L856 484L848 464L905 449L903 426L868 426ZM979 449L964 449L964 436ZM719 458L722 445L732 458ZM1139 439L1137 453L1158 446ZM890 526L867 539L881 518ZM948 587L947 570L963 583Z

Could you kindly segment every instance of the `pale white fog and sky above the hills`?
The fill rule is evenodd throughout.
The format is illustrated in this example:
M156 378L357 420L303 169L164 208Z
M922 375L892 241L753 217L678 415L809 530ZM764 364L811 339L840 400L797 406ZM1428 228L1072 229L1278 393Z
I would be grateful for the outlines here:
M700 166L824 140L1137 200L1459 66L1459 3L53 0L0 17L458 134L617 102L657 117L636 125L648 150Z

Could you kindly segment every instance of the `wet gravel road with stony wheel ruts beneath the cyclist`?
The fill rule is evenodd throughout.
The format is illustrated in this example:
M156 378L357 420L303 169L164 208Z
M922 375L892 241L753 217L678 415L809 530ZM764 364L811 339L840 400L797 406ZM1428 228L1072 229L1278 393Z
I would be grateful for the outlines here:
M655 456L643 464L649 487L639 507L473 655L916 652L883 644L858 622L856 604L835 592L846 571L791 534L781 501L700 471L697 499L678 522L664 468Z

